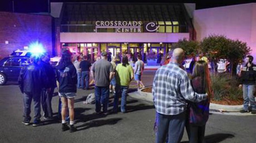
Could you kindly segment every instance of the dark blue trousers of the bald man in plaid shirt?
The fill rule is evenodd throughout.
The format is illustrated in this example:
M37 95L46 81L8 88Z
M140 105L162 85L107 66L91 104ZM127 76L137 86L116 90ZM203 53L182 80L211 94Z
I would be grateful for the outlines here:
M186 122L186 112L177 115L156 114L158 114L156 143L165 143L167 134L168 143L180 143Z

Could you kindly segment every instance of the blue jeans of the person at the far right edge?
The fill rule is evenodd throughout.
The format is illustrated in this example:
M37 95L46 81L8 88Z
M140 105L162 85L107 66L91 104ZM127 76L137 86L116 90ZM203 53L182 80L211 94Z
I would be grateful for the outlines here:
M243 97L244 97L244 110L248 110L249 102L251 104L252 110L256 110L255 98L253 96L255 90L255 85L243 84Z

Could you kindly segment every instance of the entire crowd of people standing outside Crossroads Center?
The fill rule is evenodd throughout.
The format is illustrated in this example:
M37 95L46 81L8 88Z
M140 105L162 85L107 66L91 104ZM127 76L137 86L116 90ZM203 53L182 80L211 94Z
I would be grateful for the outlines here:
M39 126L41 105L44 119L53 119L51 99L57 87L60 97L60 117L62 131L76 131L74 126L74 98L77 89L89 90L89 79L95 84L95 114L109 114L108 104L110 92L113 92L114 103L111 113L125 113L126 97L130 82L135 79L137 87L145 87L142 82L144 62L138 54L135 70L129 63L129 56L123 54L121 63L116 65L116 57L103 51L96 62L91 65L87 57L77 56L72 62L72 53L63 50L61 59L56 66L49 63L49 56L31 56L32 64L25 66L19 75L19 87L23 93L23 124L29 125L32 99L34 102L33 126ZM179 143L186 127L189 143L203 143L205 125L209 118L210 98L213 91L210 80L208 60L203 56L194 60L188 73L182 65L184 50L176 48L168 53L166 60L161 62L153 80L153 97L156 108L154 131L156 143ZM239 65L240 88L243 88L244 109L240 112L256 114L254 99L256 65L253 57L247 56L246 64ZM251 107L249 107L249 103ZM69 124L69 126L68 126Z

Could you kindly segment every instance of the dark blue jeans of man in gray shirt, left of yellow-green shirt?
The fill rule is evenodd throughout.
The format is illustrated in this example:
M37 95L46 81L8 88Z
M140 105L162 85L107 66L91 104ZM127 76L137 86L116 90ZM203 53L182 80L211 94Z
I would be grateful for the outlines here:
M109 86L98 87L95 86L95 111L99 113L101 111L101 99L103 104L103 112L107 112L107 106L109 104Z

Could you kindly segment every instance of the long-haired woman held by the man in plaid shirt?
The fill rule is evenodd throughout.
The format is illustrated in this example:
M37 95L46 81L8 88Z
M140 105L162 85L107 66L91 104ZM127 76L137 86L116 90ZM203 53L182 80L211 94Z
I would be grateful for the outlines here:
M188 124L186 126L189 143L203 143L205 124L209 118L210 97L212 95L210 72L205 61L197 61L192 73L192 86L199 94L208 98L198 103L188 102Z

